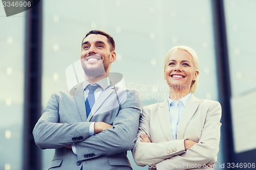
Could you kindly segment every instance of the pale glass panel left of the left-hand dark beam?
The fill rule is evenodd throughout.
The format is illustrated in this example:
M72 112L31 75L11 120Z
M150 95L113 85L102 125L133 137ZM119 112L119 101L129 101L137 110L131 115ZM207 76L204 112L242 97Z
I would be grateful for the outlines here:
M25 13L6 17L0 7L0 169L22 167Z

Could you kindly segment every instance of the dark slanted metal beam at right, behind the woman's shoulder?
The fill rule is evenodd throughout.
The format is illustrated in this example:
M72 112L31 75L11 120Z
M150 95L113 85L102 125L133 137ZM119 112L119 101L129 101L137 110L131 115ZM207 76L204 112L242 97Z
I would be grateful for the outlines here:
M225 26L225 13L223 0L212 0L214 17L215 47L217 59L217 78L219 86L219 99L222 105L221 141L224 162L234 161L233 134L231 120L231 85L228 62L228 46Z

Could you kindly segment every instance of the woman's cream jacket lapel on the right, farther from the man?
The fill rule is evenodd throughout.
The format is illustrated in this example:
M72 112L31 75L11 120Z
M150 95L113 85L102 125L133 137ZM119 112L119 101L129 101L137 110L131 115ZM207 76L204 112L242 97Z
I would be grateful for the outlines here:
M191 117L195 114L197 108L198 99L193 94L191 94L179 121L179 126L177 127L177 139L183 139L187 124L189 123Z

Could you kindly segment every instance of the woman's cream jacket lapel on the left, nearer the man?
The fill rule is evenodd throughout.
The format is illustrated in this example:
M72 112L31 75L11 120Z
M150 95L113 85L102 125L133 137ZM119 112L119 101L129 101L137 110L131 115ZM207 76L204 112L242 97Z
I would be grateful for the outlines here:
M166 98L166 100L158 107L158 116L164 135L168 140L174 140L172 129L170 127L170 115L168 105L168 99Z

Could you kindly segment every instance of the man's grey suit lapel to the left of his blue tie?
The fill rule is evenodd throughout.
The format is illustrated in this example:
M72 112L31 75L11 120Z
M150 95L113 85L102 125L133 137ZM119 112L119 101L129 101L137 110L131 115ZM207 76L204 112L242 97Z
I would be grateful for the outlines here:
M71 91L71 95L74 95L76 105L78 107L81 119L83 122L86 122L86 105L84 101L83 87L82 83L79 83Z

